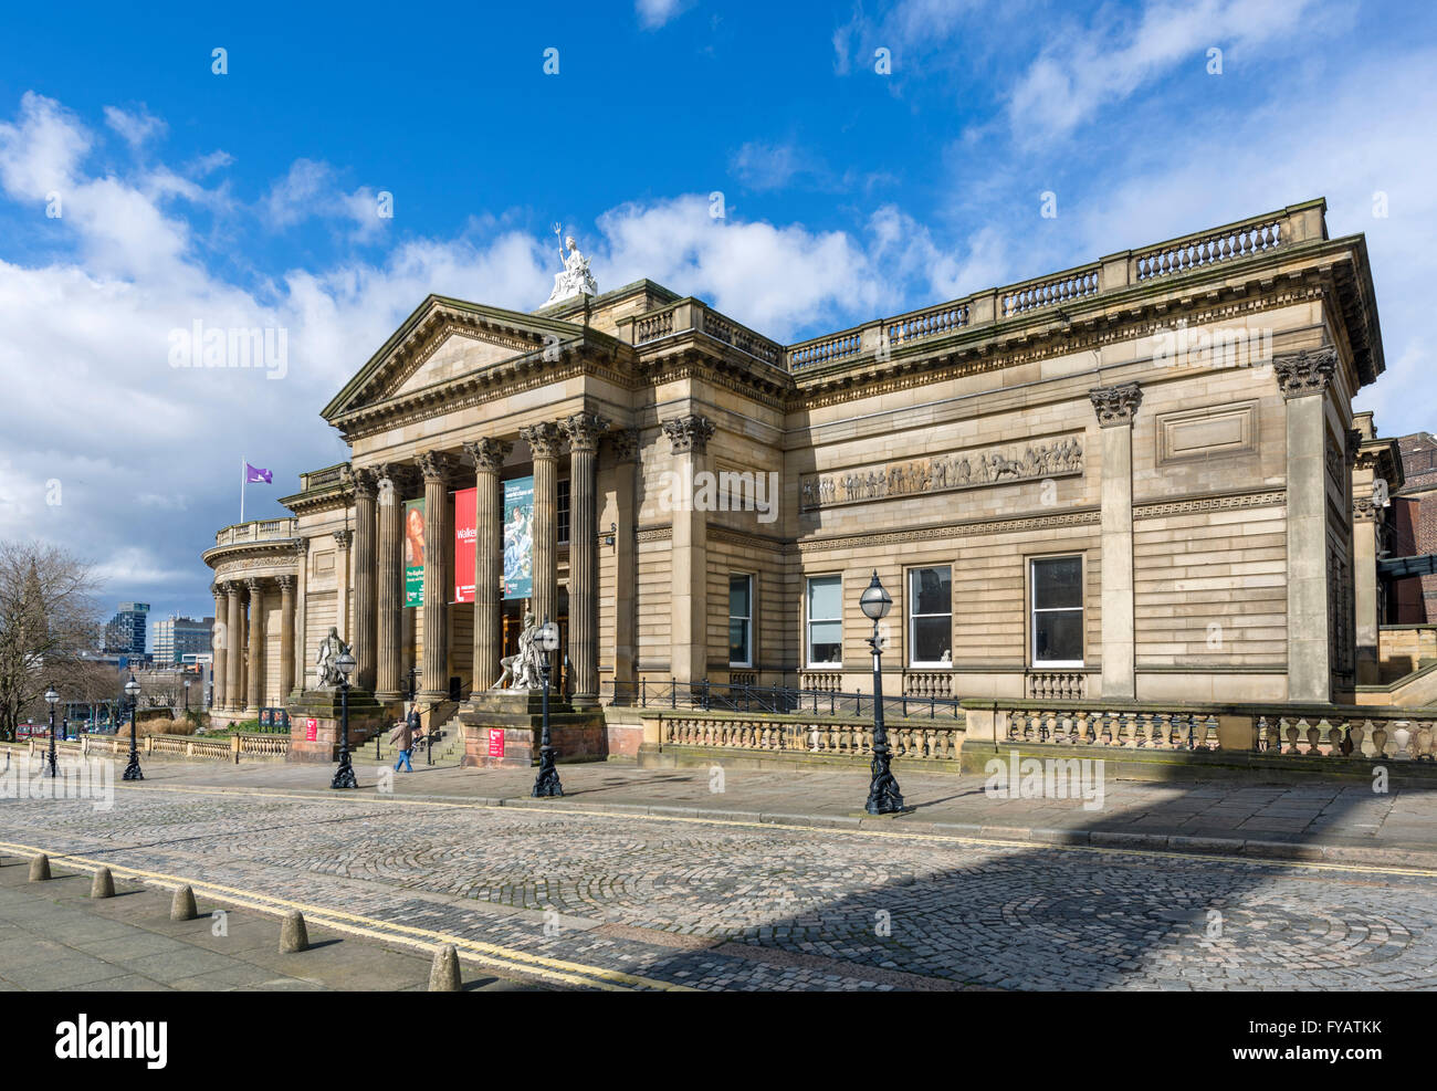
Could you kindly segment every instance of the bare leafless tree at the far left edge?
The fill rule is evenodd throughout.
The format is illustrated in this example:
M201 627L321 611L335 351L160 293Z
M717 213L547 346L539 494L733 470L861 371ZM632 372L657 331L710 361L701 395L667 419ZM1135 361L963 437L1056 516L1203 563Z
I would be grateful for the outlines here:
M43 542L0 542L0 739L45 714L45 687L75 673L101 627L91 565Z

